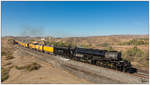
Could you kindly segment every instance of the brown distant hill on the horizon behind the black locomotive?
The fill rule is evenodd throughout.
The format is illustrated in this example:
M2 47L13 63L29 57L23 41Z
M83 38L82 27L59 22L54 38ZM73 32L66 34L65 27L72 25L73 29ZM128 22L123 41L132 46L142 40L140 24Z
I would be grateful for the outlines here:
M148 38L148 37L149 37L148 35L109 35L109 36L56 38L55 40L57 42L73 43L76 45L90 45L95 47L103 43L116 45L121 42L127 42L132 39Z

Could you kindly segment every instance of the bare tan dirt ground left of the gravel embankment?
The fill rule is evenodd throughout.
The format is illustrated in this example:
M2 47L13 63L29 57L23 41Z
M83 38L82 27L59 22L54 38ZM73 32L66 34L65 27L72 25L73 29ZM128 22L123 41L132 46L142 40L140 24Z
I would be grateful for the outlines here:
M9 78L2 83L4 84L85 84L91 83L85 79L76 77L75 75L58 68L52 64L41 61L34 56L27 55L23 51L15 50L13 59L6 60L6 56L2 56L2 68L11 68ZM27 71L24 69L16 69L16 66L26 66L36 62L41 65L40 69Z

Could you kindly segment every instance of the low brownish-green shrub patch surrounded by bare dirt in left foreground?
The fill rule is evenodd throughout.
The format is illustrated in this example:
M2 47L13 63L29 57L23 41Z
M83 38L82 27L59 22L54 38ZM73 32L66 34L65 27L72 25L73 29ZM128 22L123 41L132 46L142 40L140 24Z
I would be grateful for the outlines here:
M18 70L27 70L27 71L32 71L32 70L38 70L41 67L40 64L37 64L33 62L32 64L26 65L26 66L16 66L16 69Z

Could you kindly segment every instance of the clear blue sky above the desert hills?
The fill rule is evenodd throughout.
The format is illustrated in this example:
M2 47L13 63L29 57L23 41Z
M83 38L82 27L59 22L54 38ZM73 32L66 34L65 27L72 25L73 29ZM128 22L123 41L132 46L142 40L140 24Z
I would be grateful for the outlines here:
M148 34L148 1L2 2L2 36Z

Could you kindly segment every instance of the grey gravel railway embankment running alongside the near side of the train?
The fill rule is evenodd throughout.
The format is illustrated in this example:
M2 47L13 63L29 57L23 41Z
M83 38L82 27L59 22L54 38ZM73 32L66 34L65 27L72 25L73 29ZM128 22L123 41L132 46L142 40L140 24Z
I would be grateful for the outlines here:
M128 84L142 84L148 83L148 79L143 79L141 77L115 71L112 69L107 69L103 67L98 67L82 62L73 61L70 59L65 59L60 56L54 56L50 54L45 54L37 51L33 51L28 48L23 48L24 52L36 56L37 58L51 63L55 66L59 66L74 75L85 78L91 82L95 83L128 83Z

